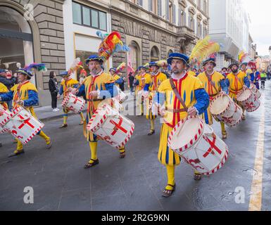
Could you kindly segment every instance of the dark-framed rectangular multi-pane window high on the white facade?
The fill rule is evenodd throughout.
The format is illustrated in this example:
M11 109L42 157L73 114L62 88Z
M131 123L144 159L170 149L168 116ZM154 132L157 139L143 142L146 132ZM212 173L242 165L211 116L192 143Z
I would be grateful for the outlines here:
M73 2L73 23L107 30L106 13Z

